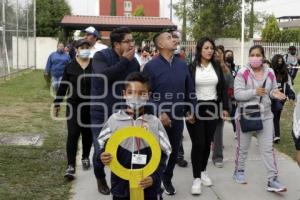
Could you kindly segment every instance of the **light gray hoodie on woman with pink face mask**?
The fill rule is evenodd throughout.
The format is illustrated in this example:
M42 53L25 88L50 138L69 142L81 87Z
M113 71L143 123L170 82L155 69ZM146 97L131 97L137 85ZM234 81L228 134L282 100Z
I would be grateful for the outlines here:
M246 70L249 70L250 72L247 81L244 78ZM277 89L277 81L273 69L269 67L263 67L263 70L263 80L255 79L254 72L249 64L238 71L234 80L234 98L238 102L236 116L239 116L241 107L259 103L260 97L256 94L256 88L261 87L264 80L266 80L266 95L263 96L260 104L261 114L262 119L264 120L273 118L270 98L273 98L272 93L275 89Z

